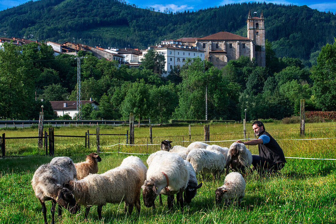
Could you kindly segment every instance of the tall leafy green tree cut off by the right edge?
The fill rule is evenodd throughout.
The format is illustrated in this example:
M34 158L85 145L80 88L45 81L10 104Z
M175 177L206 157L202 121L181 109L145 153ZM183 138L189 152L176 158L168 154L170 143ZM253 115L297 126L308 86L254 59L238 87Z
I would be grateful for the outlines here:
M311 68L316 104L322 110L336 110L336 38L321 49L317 66Z

